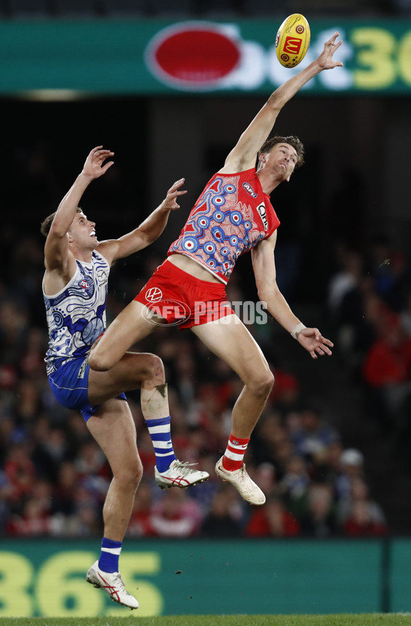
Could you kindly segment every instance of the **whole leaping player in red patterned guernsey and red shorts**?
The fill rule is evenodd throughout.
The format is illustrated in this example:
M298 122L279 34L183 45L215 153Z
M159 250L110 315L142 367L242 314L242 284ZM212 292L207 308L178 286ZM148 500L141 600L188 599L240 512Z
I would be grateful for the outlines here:
M260 347L227 303L225 283L238 256L251 251L258 296L269 313L312 359L331 354L332 341L318 328L302 324L277 285L274 252L279 220L269 195L302 165L303 145L295 136L268 138L280 110L301 87L323 70L343 65L333 58L342 43L336 43L337 37L338 32L325 42L314 62L271 94L206 185L166 261L90 352L90 368L104 371L121 359L129 346L153 331L147 316L150 289L159 289L166 302L177 300L191 311L205 311L204 315L189 315L179 328L190 328L244 383L232 411L227 449L215 471L254 505L264 504L265 496L249 477L244 455L274 377ZM167 308L170 313L164 312L164 324L175 323L172 308ZM217 313L213 319L208 315L211 310Z

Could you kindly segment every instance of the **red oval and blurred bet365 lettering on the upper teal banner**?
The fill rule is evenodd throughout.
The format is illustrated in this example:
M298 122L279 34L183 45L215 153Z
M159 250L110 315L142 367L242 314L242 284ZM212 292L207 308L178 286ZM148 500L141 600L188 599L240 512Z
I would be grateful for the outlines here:
M263 27L264 26L264 27ZM269 26L273 29L274 23ZM356 25L336 21L327 28L313 23L310 48L299 67L285 69L275 58L275 41L265 45L266 24L259 38L252 25L182 22L160 29L145 49L147 68L162 84L179 91L260 90L277 86L310 64L336 30L344 45L336 58L344 67L323 72L306 91L386 91L411 93L411 22ZM290 53L301 40L289 38Z

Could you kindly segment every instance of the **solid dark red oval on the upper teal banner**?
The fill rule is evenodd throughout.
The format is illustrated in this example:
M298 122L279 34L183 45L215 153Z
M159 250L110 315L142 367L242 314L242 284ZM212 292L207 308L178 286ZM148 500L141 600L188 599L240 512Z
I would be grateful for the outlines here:
M221 32L192 28L170 34L153 56L171 80L205 84L229 74L240 59L240 51Z

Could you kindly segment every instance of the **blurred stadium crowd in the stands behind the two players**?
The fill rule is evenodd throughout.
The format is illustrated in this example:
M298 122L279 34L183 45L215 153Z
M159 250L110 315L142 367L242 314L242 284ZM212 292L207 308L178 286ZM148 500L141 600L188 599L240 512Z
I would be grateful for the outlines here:
M10 228L1 241L10 271L0 285L0 535L99 535L110 469L82 416L58 405L51 395L43 361L42 242L27 235L15 245ZM338 248L328 289L330 336L336 358L366 389L364 410L408 452L410 266L384 239L375 240L369 252ZM141 281L158 259L147 255L146 261ZM109 319L124 304L116 299L122 291L119 283L114 276L109 285ZM230 283L229 298L244 300L235 278ZM252 330L262 344L269 342L268 327ZM177 457L198 463L210 479L190 490L158 489L139 392L127 394L145 472L130 537L352 537L388 532L361 451L342 440L323 408L301 392L294 374L271 363L276 383L246 457L247 470L267 501L250 507L214 474L240 390L238 378L188 331L162 328L139 348L164 361Z

